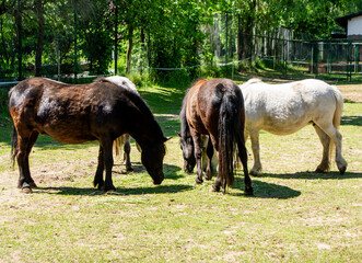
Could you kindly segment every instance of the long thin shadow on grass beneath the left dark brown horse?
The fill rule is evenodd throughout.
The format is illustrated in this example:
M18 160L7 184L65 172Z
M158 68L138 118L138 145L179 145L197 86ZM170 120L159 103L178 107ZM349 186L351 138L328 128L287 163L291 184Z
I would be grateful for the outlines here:
M154 187L117 187L115 192L104 193L96 188L81 188L81 187L38 187L34 193L47 193L54 195L144 195L144 194L168 194L179 193L192 190L191 185L160 185Z

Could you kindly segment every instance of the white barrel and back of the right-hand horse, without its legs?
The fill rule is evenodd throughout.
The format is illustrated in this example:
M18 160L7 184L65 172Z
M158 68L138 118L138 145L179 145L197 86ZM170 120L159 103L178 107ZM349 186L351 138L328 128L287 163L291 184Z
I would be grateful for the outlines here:
M241 85L241 89L248 129L277 135L292 134L317 119L330 118L337 106L334 88L320 80L282 84L259 81Z

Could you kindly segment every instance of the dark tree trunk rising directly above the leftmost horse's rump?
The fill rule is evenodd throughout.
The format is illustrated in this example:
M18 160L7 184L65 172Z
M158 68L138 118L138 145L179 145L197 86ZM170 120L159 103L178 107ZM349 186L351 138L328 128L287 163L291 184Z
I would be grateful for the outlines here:
M43 55L43 39L44 39L44 8L43 1L36 0L35 8L38 15L38 34L37 34L37 44L36 44L36 54L35 54L35 76L39 77L42 75L42 55Z

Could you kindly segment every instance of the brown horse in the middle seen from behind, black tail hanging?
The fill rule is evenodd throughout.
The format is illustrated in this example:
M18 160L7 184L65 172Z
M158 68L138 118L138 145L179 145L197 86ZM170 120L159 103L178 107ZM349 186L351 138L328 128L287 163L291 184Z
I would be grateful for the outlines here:
M197 164L196 183L202 183L201 140L209 135L207 147L208 164L206 179L212 176L213 148L218 152L218 178L214 191L233 185L233 151L235 144L244 167L245 193L253 194L252 180L247 170L244 144L244 100L238 87L229 79L199 80L187 92L180 112L180 147L185 159L184 169L192 172Z

